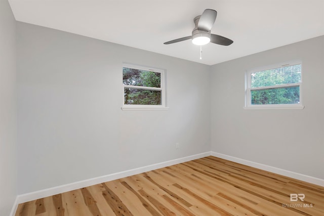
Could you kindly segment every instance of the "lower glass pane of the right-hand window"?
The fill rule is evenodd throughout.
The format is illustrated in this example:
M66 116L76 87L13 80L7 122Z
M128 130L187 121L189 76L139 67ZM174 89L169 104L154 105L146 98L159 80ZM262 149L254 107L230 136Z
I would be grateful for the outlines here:
M299 104L299 87L251 90L251 104Z

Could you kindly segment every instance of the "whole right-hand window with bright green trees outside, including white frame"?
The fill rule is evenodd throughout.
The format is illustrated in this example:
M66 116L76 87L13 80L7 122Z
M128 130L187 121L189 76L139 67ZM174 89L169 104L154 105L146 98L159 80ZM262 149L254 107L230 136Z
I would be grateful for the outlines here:
M290 62L246 74L246 108L302 109L302 64Z

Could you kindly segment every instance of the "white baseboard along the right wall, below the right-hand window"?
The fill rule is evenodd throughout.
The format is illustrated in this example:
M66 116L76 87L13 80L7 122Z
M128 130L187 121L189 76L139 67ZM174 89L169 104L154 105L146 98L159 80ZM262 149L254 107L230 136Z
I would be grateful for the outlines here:
M277 168L277 167L273 167L273 166L269 166L269 165L265 165L262 163L257 163L257 162L253 162L250 160L245 160L245 159L241 159L241 158L237 158L237 157L232 157L226 154L221 154L221 153L217 153L217 152L211 152L212 156L215 157L219 157L225 160L230 160L233 162L237 162L240 164L244 164L244 165L248 165L248 166L252 166L255 168L259 168L259 169L263 169L266 171L270 171L270 172L274 172L275 174L279 174L282 176L287 176L290 178L294 178L294 179L298 179L304 182L309 182L315 185L320 185L322 187L324 187L324 180L323 179L319 179L319 178L315 178L315 177L311 177L311 176L306 176L304 174L299 174L297 172L293 172L293 171L289 171L286 169L281 169L281 168Z

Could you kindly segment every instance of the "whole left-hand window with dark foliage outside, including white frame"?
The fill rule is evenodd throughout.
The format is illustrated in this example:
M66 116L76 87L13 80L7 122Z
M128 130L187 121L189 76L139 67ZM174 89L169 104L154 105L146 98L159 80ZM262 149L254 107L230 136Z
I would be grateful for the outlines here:
M165 71L137 65L123 65L124 109L167 109Z

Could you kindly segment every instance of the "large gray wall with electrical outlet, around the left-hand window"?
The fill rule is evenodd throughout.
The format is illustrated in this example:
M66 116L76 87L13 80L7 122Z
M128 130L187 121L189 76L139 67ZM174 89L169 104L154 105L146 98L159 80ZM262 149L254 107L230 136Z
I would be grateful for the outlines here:
M19 194L210 151L209 66L20 22L17 48ZM120 109L123 62L167 70L169 110Z

